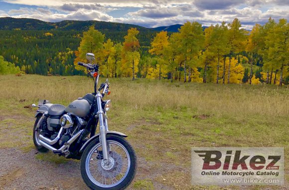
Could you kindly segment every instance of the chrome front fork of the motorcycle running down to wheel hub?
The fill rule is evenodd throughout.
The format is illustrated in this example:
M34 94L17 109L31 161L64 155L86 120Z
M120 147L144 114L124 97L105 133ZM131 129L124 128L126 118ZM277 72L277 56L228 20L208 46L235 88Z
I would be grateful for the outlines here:
M97 101L97 107L98 107L97 116L99 118L99 125L100 125L99 131L100 131L100 140L101 140L101 146L102 146L102 154L103 154L104 164L108 165L109 164L108 147L107 147L107 142L106 142L106 131L108 131L108 125L107 125L106 115L104 111L102 110L101 98L102 98L102 95L100 93L97 93L96 94L96 101Z

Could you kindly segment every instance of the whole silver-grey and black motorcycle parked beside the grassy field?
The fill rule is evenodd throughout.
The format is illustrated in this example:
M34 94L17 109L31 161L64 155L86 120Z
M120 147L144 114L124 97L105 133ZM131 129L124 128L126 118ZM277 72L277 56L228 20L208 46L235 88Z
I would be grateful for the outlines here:
M44 100L38 106L33 128L33 142L39 152L80 159L81 176L92 190L124 190L136 175L137 156L126 141L127 135L109 131L107 112L111 100L108 79L97 89L99 65L87 53L86 67L94 80L94 93L71 102L67 107ZM99 123L99 133L96 134Z

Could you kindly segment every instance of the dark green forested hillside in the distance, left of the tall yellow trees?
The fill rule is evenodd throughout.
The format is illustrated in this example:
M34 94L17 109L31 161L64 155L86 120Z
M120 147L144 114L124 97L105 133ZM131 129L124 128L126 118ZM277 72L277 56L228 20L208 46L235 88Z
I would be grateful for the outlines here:
M127 30L137 27L141 50L147 52L156 31L133 24L104 21L44 22L30 18L0 18L0 55L27 74L79 75L73 60L83 31L94 25L105 39L124 41ZM145 53L144 53L145 54Z

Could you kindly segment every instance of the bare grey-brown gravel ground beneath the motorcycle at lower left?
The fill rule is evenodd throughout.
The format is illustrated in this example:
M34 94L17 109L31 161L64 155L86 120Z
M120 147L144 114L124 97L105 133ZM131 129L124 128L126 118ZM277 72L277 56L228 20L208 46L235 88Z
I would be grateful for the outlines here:
M89 190L79 162L56 165L35 159L36 153L0 149L0 190Z

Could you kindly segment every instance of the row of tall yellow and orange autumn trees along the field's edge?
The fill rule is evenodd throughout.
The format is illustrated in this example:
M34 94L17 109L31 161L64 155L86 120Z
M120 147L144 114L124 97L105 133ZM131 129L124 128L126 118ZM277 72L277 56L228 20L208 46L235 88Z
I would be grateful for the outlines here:
M200 23L187 21L179 32L156 33L148 51L142 51L138 34L137 28L130 28L122 44L104 42L104 35L91 27L75 51L75 63L93 52L107 77L278 85L289 80L286 19L276 23L270 18L251 31L243 29L238 18L205 30Z

